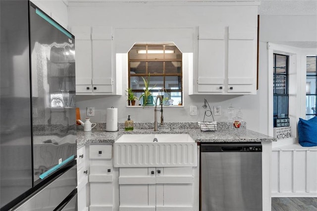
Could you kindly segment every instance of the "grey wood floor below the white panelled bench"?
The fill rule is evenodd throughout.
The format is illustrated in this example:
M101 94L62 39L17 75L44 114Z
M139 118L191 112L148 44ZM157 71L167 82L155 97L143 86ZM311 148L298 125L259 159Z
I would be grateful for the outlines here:
M317 198L272 198L272 211L317 211Z

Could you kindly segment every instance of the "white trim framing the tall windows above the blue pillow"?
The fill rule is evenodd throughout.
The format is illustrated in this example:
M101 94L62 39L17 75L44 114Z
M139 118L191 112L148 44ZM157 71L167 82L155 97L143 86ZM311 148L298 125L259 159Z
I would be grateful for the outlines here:
M268 131L273 136L273 53L289 56L289 118L291 142L297 142L297 122L299 117L306 118L306 56L317 54L316 49L300 49L275 43L267 43L268 74ZM305 71L301 71L305 70ZM285 140L289 142L289 139Z

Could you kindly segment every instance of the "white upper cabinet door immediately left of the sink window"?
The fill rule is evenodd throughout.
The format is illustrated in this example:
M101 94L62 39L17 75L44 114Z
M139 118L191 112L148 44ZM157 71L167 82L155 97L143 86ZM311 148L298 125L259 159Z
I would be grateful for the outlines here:
M93 92L111 94L112 77L112 37L111 27L93 27Z

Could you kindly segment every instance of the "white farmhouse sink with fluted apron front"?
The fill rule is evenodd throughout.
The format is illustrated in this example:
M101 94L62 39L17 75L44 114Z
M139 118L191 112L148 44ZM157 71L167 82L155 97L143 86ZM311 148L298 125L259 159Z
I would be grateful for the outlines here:
M124 134L113 144L113 165L197 166L197 143L188 134Z

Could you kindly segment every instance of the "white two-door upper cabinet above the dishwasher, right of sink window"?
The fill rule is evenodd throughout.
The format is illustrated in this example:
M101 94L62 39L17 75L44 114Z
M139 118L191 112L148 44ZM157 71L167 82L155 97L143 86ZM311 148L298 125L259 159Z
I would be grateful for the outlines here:
M256 94L256 33L252 27L199 26L192 94Z

